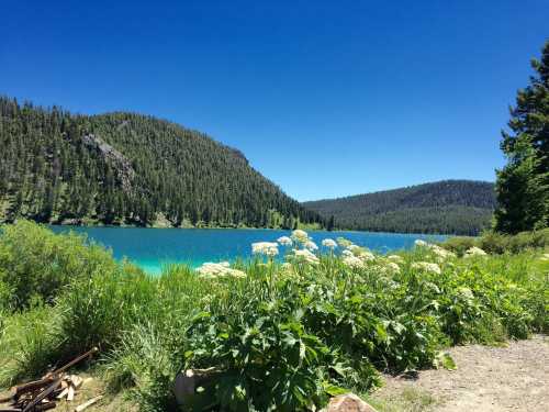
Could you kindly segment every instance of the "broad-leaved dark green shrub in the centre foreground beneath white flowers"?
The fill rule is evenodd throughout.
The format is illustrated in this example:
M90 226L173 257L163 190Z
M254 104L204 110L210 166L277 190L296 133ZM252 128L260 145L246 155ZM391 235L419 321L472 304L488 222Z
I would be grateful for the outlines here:
M213 399L228 411L290 412L322 404L330 350L305 330L293 286L281 282L270 299L231 293L228 301L239 310L203 312L188 332L186 366L219 369L188 407L195 410Z

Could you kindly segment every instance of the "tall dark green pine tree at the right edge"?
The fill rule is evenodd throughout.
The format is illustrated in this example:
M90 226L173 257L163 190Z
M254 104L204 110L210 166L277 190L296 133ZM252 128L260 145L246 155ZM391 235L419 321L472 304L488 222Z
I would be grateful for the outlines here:
M518 90L501 148L508 163L497 171L495 230L517 233L549 225L549 41L536 76Z

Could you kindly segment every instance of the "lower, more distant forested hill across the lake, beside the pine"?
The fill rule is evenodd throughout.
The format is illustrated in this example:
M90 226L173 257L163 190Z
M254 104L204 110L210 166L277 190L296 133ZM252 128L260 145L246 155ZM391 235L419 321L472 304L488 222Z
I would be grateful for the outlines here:
M303 204L339 229L474 235L490 226L495 194L490 182L444 180Z

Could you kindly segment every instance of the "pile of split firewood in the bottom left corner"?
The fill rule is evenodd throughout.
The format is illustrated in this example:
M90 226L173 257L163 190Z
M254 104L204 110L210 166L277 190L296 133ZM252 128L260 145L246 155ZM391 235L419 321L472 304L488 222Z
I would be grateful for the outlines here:
M0 399L0 412L48 411L55 409L58 402L72 401L77 391L86 386L91 378L82 379L77 375L68 375L66 371L97 352L98 348L94 347L40 380L16 386L11 396ZM82 412L100 399L101 397L96 397L88 400L76 407L75 412Z

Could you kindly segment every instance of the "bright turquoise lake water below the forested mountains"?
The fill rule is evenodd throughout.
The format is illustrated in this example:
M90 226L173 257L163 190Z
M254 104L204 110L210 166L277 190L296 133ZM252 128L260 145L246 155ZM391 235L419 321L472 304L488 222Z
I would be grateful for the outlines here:
M126 257L150 274L158 274L163 265L171 263L197 267L204 261L248 258L251 256L251 243L276 242L280 236L289 236L291 233L261 229L51 227L56 233L86 233L93 242L111 248L115 258ZM446 237L372 232L311 231L309 234L318 246L324 238L344 236L357 245L380 253L410 248L416 238L439 241Z

